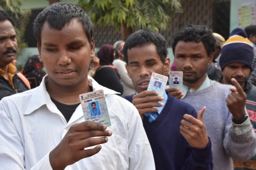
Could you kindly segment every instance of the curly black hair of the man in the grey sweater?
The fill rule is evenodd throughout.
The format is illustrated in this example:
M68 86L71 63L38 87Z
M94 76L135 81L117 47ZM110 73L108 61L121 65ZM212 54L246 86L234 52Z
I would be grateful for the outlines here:
M179 41L193 41L196 43L200 43L202 41L208 57L215 50L216 40L212 35L211 29L202 25L187 25L174 34L172 41L173 54L175 54L175 46Z

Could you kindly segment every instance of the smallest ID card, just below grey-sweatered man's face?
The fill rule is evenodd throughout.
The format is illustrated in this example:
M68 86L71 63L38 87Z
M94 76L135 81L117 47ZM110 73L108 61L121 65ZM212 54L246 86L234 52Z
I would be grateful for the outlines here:
M183 71L170 71L169 87L181 89L183 83Z

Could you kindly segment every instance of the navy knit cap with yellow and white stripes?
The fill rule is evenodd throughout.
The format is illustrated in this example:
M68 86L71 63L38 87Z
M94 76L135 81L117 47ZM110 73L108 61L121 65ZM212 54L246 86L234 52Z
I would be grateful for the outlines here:
M234 29L227 41L223 44L220 57L221 70L230 62L242 62L252 70L253 46L245 31L241 28Z

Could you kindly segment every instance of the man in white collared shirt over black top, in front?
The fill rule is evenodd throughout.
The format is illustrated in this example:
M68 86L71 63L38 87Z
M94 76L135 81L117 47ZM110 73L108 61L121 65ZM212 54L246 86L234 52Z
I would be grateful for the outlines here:
M55 3L36 17L34 32L48 74L39 87L0 102L0 169L155 169L136 108L87 76L95 50L88 15ZM84 122L79 104L79 94L100 89L108 130Z

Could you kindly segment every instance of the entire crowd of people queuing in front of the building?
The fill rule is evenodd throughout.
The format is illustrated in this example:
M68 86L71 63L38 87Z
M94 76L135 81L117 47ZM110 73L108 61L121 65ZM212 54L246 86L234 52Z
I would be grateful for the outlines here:
M256 169L256 25L227 41L187 25L172 45L141 29L95 53L85 11L54 3L35 19L39 55L21 71L13 25L0 11L0 169ZM181 89L147 90L170 70L183 72ZM80 104L100 89L108 128L84 121Z

